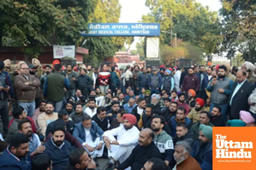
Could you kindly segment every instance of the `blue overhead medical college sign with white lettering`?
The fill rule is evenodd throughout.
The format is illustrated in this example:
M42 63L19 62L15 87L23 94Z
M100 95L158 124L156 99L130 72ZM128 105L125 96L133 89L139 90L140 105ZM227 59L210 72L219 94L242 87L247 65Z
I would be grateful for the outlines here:
M160 23L90 23L87 32L81 32L85 37L105 36L160 36Z

